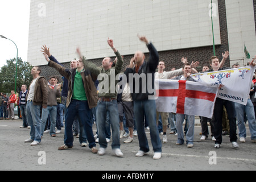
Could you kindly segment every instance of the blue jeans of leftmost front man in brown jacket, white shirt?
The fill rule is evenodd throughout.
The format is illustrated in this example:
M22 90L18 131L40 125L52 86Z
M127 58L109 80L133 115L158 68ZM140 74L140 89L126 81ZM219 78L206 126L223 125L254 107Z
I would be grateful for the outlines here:
M41 105L33 105L32 101L27 102L27 122L31 126L30 139L41 142L42 125L40 118Z

